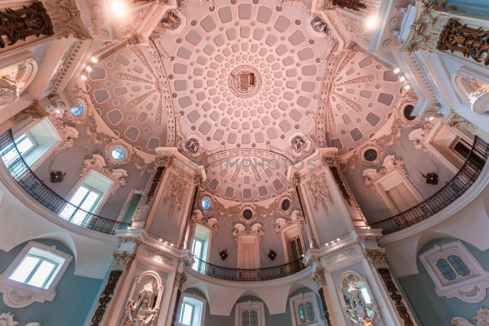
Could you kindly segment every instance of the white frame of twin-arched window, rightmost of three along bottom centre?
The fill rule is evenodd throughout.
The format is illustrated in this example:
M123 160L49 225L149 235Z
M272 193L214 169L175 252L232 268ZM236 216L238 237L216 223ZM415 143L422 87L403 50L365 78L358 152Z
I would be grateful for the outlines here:
M312 311L314 313L314 320L309 319L309 314L307 310L307 303L312 304ZM306 322L301 322L299 314L299 306L304 304L304 311ZM290 314L292 316L292 326L326 326L326 322L323 320L323 314L319 307L319 302L317 301L317 294L314 291L310 292L300 292L289 298Z

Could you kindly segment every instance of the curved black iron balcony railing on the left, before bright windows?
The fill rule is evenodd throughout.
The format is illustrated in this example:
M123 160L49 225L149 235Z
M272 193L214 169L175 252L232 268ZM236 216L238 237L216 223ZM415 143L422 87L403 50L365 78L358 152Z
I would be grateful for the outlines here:
M124 230L131 225L131 223L119 222L87 212L52 191L25 163L14 142L11 130L0 135L0 153L5 168L22 189L60 218L72 221L76 216L81 222L75 224L108 234L115 234L115 230ZM62 214L62 212L69 212L69 214Z

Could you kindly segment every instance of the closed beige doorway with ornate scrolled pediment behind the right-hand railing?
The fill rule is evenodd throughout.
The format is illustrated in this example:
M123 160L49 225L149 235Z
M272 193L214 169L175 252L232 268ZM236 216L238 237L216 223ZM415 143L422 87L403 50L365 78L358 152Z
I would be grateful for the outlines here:
M381 169L366 169L363 183L378 194L393 215L397 215L423 201L423 197L411 184L403 160L388 155Z

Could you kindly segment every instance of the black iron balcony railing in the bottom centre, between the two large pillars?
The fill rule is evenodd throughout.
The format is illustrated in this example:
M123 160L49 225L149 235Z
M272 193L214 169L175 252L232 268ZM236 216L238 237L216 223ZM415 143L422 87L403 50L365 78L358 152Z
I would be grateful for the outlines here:
M279 266L257 269L228 268L201 261L197 257L194 257L194 259L196 263L194 263L192 268L199 273L215 277L216 279L238 282L279 279L300 272L306 268L302 263L302 258Z

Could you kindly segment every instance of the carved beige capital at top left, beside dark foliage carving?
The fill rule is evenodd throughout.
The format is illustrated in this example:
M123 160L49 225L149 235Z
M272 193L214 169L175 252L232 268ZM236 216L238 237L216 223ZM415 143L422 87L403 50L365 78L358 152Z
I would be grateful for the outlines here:
M51 19L56 39L74 37L79 40L92 39L82 22L81 12L74 0L44 0L44 8Z

